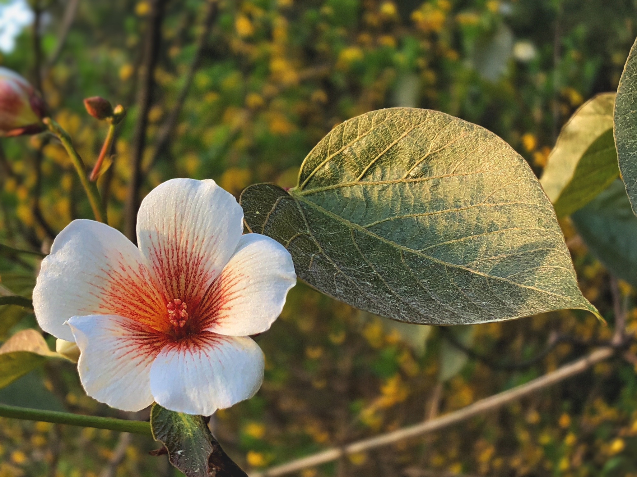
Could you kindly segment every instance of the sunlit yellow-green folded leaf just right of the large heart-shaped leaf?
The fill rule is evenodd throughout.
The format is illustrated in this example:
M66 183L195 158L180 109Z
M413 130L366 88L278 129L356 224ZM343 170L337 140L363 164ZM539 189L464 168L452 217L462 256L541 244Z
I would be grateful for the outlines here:
M558 216L569 216L619 176L613 139L615 93L602 93L566 123L540 183Z

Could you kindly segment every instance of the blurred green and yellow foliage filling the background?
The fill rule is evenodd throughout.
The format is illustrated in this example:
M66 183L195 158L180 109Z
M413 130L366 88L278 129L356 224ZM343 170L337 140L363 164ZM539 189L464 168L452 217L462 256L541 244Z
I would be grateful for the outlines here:
M66 4L34 4L44 12L45 59L57 47ZM84 112L82 99L101 95L129 108L113 166L99 182L118 228L150 8L147 1L80 1L59 59L40 64L54 118L89 165L106 130ZM211 177L236 195L255 182L293 186L304 156L334 125L387 106L438 109L483 125L540 175L575 108L616 90L637 35L637 5L629 0L225 0L171 141L155 151L196 55L205 11L203 0L166 4L142 193L184 176ZM0 63L37 84L33 33L25 29ZM91 217L61 146L43 136L0 144L2 243L47 249L69 221ZM583 293L612 324L608 273L568 219L562 226ZM28 296L37 267L28 256L4 255L0 285ZM637 333L633 288L620 282L620 291L628 331ZM1 340L34 326L21 308L0 310ZM488 358L467 359L438 328L399 326L299 284L282 317L257 338L267 357L261 391L219 411L212 425L241 466L258 469L527 382L589 348L561 343L515 370L492 364L536 356L551 333L606 340L611 328L585 312L564 311L452 329ZM637 475L636 393L633 366L616 359L498 413L301 475ZM0 402L124 414L86 397L72 364L57 361L0 389ZM0 476L176 473L165 457L147 455L154 446L139 436L129 441L110 431L2 419Z

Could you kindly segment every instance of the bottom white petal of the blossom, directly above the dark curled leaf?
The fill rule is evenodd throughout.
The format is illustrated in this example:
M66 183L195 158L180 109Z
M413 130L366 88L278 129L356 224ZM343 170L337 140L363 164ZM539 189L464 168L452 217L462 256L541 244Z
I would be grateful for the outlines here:
M166 409L209 416L254 396L263 369L263 352L251 338L204 331L162 349L150 368L150 390Z

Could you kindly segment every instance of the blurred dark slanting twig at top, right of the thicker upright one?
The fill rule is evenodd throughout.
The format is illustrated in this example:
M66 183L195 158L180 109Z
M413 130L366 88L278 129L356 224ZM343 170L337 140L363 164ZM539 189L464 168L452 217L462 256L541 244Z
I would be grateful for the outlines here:
M188 97L190 85L192 85L192 80L194 79L195 73L197 72L199 64L201 63L204 49L206 48L206 44L208 43L208 36L210 36L210 31L212 30L212 25L215 23L215 18L217 17L218 11L217 0L207 0L207 3L208 9L206 10L206 15L203 21L203 30L201 31L199 38L197 38L197 49L195 52L195 56L192 59L192 63L190 63L188 73L186 74L186 79L183 83L182 90L179 92L177 101L175 102L175 106L173 107L170 114L168 114L168 118L166 118L166 122L164 122L161 129L159 130L159 134L157 134L155 149L153 151L152 158L150 159L150 163L148 164L148 169L150 169L157 161L159 156L161 156L167 150L171 135L173 134L173 130L175 130L177 120L179 119L179 114L182 112L183 103Z

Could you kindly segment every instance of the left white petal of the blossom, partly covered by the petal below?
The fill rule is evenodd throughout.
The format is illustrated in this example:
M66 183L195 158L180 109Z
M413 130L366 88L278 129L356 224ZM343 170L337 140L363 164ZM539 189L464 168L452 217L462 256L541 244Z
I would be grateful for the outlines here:
M163 295L130 240L106 224L80 219L55 237L43 259L33 308L44 331L73 341L64 322L76 315L122 315L169 327Z

